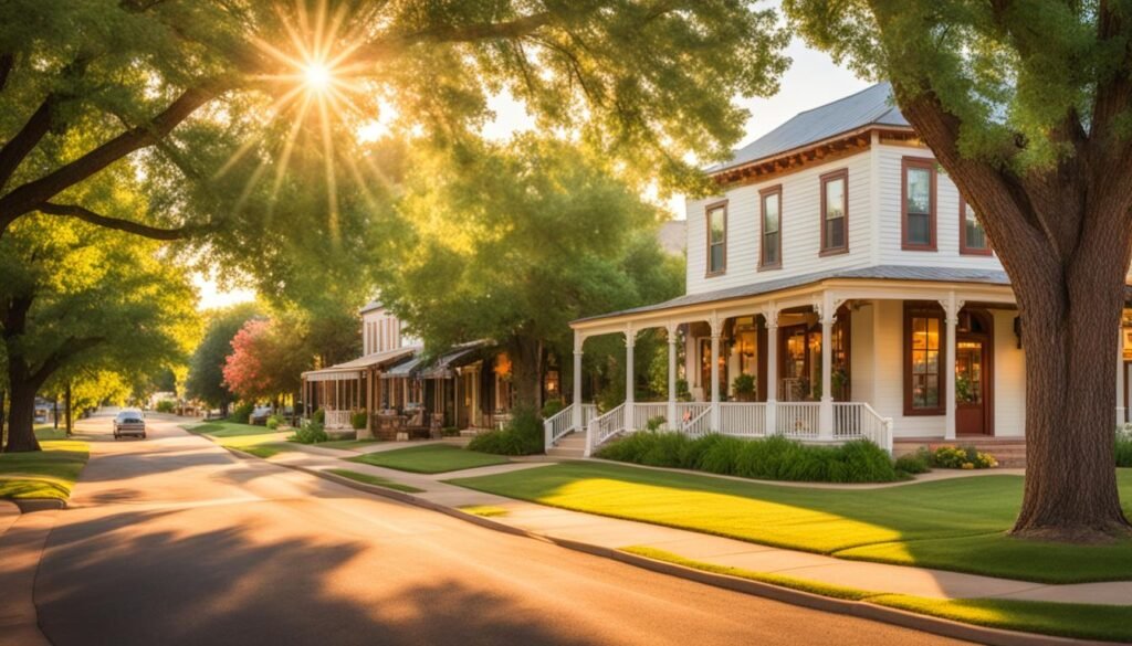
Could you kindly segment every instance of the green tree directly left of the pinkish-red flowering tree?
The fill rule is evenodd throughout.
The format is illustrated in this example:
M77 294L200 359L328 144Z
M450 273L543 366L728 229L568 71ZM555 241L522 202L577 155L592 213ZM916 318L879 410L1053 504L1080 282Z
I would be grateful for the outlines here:
M235 395L224 385L224 362L232 354L235 333L247 321L261 317L260 311L260 305L256 303L239 303L206 315L204 337L189 362L185 385L189 397L215 406L223 416L228 416L228 407L235 402Z

